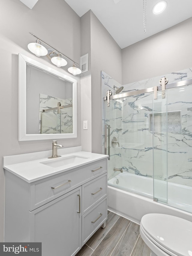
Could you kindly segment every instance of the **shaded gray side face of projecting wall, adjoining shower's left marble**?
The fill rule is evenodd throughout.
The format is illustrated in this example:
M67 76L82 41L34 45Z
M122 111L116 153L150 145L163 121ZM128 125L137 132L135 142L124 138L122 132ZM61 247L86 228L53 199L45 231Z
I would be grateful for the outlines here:
M102 153L101 70L122 83L121 48L91 12L91 116L92 152Z

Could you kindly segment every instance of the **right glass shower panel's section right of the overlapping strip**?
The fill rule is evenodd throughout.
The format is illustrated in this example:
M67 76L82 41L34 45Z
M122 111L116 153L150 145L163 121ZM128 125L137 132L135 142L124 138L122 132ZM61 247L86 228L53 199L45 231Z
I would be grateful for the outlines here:
M192 85L167 90L168 204L192 212Z

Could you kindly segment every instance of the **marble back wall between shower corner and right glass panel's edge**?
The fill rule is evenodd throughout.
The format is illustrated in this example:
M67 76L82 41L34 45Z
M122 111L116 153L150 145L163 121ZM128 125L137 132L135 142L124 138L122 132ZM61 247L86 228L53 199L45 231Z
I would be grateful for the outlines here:
M128 97L123 103L123 170L152 177L152 133L149 132L152 93Z

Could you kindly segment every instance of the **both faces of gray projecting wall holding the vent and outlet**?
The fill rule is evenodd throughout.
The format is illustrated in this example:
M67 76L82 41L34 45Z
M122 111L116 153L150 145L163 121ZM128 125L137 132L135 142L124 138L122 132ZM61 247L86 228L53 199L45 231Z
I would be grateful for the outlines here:
M89 53L89 71L81 75L82 149L102 153L101 70L122 83L121 48L92 11L81 17L81 55ZM90 130L91 126L91 130Z

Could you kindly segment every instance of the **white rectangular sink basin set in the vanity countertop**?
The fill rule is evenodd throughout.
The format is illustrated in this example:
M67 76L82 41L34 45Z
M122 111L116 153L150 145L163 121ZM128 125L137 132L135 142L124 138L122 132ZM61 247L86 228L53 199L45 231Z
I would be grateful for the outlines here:
M84 156L79 156L79 155L71 155L71 156L51 159L49 161L41 162L40 164L45 164L45 165L56 168L56 167L64 166L66 164L74 164L74 165L82 164L88 158L89 157L84 157Z

